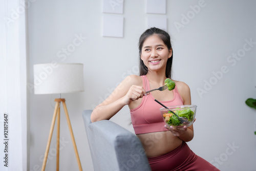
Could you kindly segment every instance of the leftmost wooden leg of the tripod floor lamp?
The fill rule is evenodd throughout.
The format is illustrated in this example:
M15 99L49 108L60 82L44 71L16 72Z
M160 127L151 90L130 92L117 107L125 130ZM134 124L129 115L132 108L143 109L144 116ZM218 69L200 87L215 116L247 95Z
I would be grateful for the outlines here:
M46 168L46 162L47 162L47 158L48 158L49 148L50 148L50 144L51 144L51 140L52 140L52 133L53 133L53 129L54 129L54 123L55 123L55 119L56 119L58 109L59 109L59 102L56 102L55 109L54 109L54 114L53 114L53 118L52 118L50 134L49 134L48 142L47 142L47 146L46 146L44 162L42 163L42 169L41 169L42 171L44 171L45 168Z

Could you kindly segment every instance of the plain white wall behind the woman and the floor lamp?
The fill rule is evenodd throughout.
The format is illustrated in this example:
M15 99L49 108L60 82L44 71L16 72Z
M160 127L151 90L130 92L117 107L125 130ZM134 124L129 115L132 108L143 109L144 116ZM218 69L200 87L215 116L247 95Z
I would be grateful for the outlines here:
M202 1L167 1L167 29L174 49L174 79L186 82L193 104L198 105L195 138L190 148L221 170L256 170L256 111L245 105L256 98L256 1L210 1L193 14L190 6ZM84 65L85 91L63 94L84 170L93 170L81 113L93 109L129 73L137 74L138 39L146 29L145 1L124 1L123 14L102 13L102 1L35 1L28 9L30 79L37 63L80 62ZM123 15L123 38L102 37L102 16ZM162 16L162 15L161 15ZM187 22L187 23L184 23ZM183 23L177 29L174 23ZM76 35L86 37L65 59L58 52L72 44ZM247 44L251 40L251 45ZM250 47L251 46L251 47ZM245 50L243 50L245 48ZM245 54L242 54L245 52ZM242 57L233 58L239 53ZM63 53L62 53L63 54ZM218 73L217 76L215 74ZM210 82L210 86L205 85ZM203 94L198 92L204 90ZM58 95L30 93L30 170L39 170L45 153ZM61 111L60 170L78 166ZM129 110L113 120L127 129ZM55 169L55 134L47 170ZM61 146L61 145L60 145ZM233 146L232 148L230 146Z

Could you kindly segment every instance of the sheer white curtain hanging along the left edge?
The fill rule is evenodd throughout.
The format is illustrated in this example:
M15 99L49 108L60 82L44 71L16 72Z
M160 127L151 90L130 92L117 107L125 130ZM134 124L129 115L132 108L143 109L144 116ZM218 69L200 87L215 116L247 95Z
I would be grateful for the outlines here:
M25 0L0 1L0 170L3 171L27 170L28 165L28 7Z

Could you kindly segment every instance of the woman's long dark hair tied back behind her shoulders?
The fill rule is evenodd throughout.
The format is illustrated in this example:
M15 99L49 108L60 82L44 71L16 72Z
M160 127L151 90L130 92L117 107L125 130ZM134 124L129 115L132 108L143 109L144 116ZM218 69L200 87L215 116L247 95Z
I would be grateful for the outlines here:
M172 45L170 44L170 35L166 31L152 27L150 29L147 29L144 33L142 33L140 36L140 39L139 39L140 76L146 75L148 72L147 67L144 65L143 60L141 60L141 58L140 58L142 46L144 44L145 39L152 36L153 34L157 34L163 40L163 42L167 46L168 50L172 49ZM166 70L165 70L166 78L171 78L171 76L172 76L172 65L173 65L173 53L172 53L172 56L170 58L168 58L168 60L167 60Z

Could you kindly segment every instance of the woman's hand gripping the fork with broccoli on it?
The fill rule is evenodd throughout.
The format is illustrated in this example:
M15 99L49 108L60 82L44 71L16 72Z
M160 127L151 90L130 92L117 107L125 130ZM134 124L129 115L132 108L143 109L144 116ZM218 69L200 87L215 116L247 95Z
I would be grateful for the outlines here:
M145 95L146 91L141 86L131 86L129 91L126 93L126 95L123 97L125 104L130 104L134 100L138 100L139 98L142 98Z

